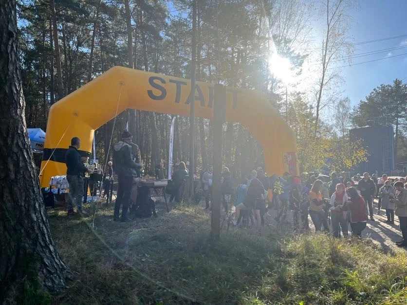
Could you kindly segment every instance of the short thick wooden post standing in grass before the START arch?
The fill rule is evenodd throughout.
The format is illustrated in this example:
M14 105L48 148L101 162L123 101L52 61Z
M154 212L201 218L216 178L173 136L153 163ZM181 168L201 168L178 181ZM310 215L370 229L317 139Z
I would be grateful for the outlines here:
M221 178L222 178L222 125L226 117L226 88L215 85L213 105L213 184L211 236L219 239L221 234Z

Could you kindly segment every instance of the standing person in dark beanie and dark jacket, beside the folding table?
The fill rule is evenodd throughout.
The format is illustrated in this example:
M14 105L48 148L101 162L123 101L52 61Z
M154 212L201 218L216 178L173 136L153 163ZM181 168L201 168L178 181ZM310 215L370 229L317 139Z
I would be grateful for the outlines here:
M130 222L128 216L131 188L133 186L133 173L141 167L132 159L131 143L132 134L125 130L122 133L122 141L114 144L113 147L113 170L118 176L119 186L117 189L117 198L114 204L113 221ZM122 217L119 218L120 205L122 205Z

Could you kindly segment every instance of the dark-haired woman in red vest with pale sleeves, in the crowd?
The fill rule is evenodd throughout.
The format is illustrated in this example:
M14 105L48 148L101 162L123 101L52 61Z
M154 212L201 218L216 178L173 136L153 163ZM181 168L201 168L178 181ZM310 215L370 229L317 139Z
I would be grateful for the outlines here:
M350 199L345 202L343 210L350 212L352 234L361 237L362 231L365 230L366 223L368 222L365 200L362 196L359 196L354 187L349 187L346 193Z

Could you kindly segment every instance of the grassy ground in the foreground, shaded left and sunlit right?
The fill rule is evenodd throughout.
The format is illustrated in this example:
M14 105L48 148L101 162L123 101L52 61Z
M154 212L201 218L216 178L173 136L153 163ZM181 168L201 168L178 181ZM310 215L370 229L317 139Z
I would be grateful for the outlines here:
M407 304L406 251L369 240L293 235L287 227L223 228L181 206L135 223L49 211L59 253L75 271L56 304Z

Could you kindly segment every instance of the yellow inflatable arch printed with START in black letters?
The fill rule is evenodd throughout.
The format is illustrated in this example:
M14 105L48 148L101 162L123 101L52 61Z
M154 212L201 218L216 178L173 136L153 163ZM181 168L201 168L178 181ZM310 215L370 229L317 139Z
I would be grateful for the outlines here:
M226 90L226 120L245 125L263 145L267 173L296 174L296 137L277 111L255 90ZM48 187L51 177L66 174L71 138L79 137L80 150L91 152L94 130L127 108L187 116L189 91L190 80L113 67L61 99L48 117L41 187ZM214 86L197 82L195 95L195 115L212 118Z

